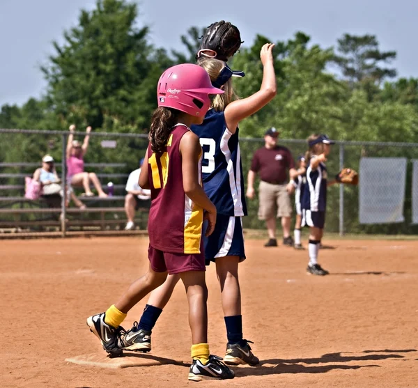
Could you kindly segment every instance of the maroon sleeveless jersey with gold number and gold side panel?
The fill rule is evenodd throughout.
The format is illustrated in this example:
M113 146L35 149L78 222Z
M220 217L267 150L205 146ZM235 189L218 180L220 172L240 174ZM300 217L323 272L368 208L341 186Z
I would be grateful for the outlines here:
M201 253L203 208L193 203L183 189L180 140L189 131L176 125L163 153L148 146L148 176L151 207L148 217L150 245L160 251L181 254ZM201 156L199 183L201 184Z

